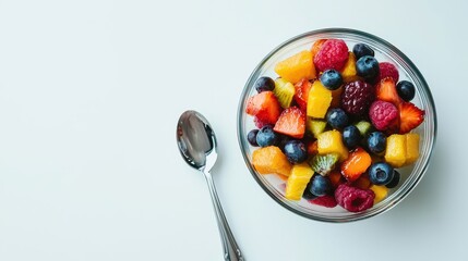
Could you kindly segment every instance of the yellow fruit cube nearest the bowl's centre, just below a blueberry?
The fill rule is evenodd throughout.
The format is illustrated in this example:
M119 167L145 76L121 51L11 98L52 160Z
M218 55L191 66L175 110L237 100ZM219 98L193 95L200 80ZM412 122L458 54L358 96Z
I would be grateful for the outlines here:
M348 149L343 144L341 134L338 130L327 130L319 135L319 153L338 153L339 161L348 158Z

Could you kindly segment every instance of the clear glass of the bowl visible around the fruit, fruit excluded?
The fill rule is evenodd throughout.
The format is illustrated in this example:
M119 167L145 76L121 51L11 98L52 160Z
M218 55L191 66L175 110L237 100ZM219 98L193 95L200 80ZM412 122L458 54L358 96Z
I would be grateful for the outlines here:
M311 204L304 199L301 199L300 201L290 201L284 196L284 181L274 174L259 174L251 164L251 156L255 148L250 146L248 142L247 134L252 128L255 128L255 125L253 123L253 119L245 113L245 107L248 98L256 94L256 90L253 87L255 80L262 76L276 78L277 75L274 72L274 66L277 62L301 50L310 49L315 40L323 38L343 39L347 42L350 50L352 50L352 46L358 42L363 42L372 47L375 51L375 58L377 61L393 62L398 67L399 79L407 79L415 84L416 97L411 102L425 111L424 122L418 128L412 130L420 135L420 158L415 164L398 169L401 174L401 181L396 188L389 190L386 199L373 206L371 209L359 213L349 212L339 206L328 209ZM435 142L435 135L436 114L434 101L428 84L416 65L409 60L409 58L389 42L371 34L355 29L327 28L313 30L296 36L278 46L254 69L242 90L238 108L238 139L240 149L249 171L253 178L259 183L260 187L262 187L269 197L286 209L308 219L325 222L350 222L362 220L383 213L384 211L395 207L416 187L428 170L432 149Z

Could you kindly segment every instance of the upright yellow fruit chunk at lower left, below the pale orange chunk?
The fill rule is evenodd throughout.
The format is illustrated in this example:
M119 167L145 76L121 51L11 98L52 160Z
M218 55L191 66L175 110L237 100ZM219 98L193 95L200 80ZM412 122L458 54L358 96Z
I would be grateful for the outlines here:
M293 165L286 183L285 197L289 200L300 200L312 175L313 171L308 164Z

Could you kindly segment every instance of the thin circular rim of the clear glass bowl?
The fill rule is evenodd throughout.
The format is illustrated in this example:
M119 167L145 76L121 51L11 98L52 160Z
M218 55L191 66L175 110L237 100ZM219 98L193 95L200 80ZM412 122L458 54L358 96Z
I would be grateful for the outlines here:
M243 124L241 123L242 120L242 114L243 112L243 103L245 101L245 99L248 98L248 94L250 91L250 85L253 78L255 78L256 76L259 76L260 70L262 69L262 66L268 61L268 59L271 59L275 53L277 53L278 51L280 51L281 49L284 49L285 47L302 39L309 36L316 36L316 35L341 35L344 38L346 38L347 36L358 36L358 37L363 37L367 40L370 40L376 45L379 45L380 47L384 47L385 49L387 49L386 51L391 50L392 52L394 52L398 58L401 59L403 62L405 62L409 70L415 74L415 76L419 79L420 82L420 87L422 87L425 99L428 100L430 107L428 109L431 110L431 113L433 114L433 129L432 129L432 138L430 139L431 144L429 145L429 154L428 158L425 159L425 161L423 162L423 166L420 171L420 173L416 176L416 179L409 185L409 187L406 188L405 191L403 191L403 194L395 198L393 201L388 202L387 204L376 209L375 211L363 211L363 212L358 212L358 213L352 213L349 212L350 214L343 217L343 216L338 216L338 217L334 217L334 216L317 216L317 215L312 215L312 214L308 214L305 212L302 212L287 203L285 203L284 201L281 201L279 198L277 198L277 196L275 196L264 184L263 182L259 178L256 171L254 170L253 165L250 162L250 159L248 157L248 153L245 153L244 150L244 137L243 137ZM332 38L332 37L331 37ZM262 60L261 62L255 66L255 69L252 71L251 75L249 76L241 96L240 96L240 100L239 100L239 104L238 104L238 110L237 110L237 135L238 135L238 144L240 146L240 150L242 153L242 157L244 159L244 162L251 173L251 175L253 176L253 178L256 181L256 183L260 185L260 187L272 198L274 199L274 201L276 201L277 203L279 203L281 207L286 208L287 210L310 219L310 220L315 220L315 221L322 221L322 222L331 222L331 223L347 223L347 222L353 222L353 221L360 221L360 220L364 220L364 219L369 219L371 216L375 216L377 214L382 214L391 209L393 209L396 204L398 204L403 199L405 199L413 189L415 187L419 184L419 182L421 181L421 178L424 176L424 174L428 171L429 164L430 164L430 159L432 157L432 151L434 149L435 146L435 140L436 140L436 134L437 134L437 116L436 116L436 110L435 110L435 102L433 100L432 97L432 92L428 86L428 83L425 82L424 77L422 76L421 72L419 71L419 69L412 63L412 61L405 54L403 53L398 48L396 48L394 45L389 44L388 41L362 32L362 30L357 30L357 29L351 29L351 28L343 28L343 27L331 27L331 28L322 28L322 29L315 29L315 30L310 30L310 32L305 32L302 34L299 34L295 37L289 38L288 40L284 41L283 44L278 45L276 48L274 48L271 52L268 52ZM413 173L411 172L411 175ZM408 177L409 178L409 177ZM371 208L372 210L373 208Z

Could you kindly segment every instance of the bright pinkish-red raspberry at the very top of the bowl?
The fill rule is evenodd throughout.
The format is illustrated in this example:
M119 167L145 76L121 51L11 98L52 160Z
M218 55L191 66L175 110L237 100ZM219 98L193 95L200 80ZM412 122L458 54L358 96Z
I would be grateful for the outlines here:
M313 61L315 67L320 72L324 72L328 69L340 71L347 60L348 46L346 46L346 42L339 39L329 39L322 45Z

